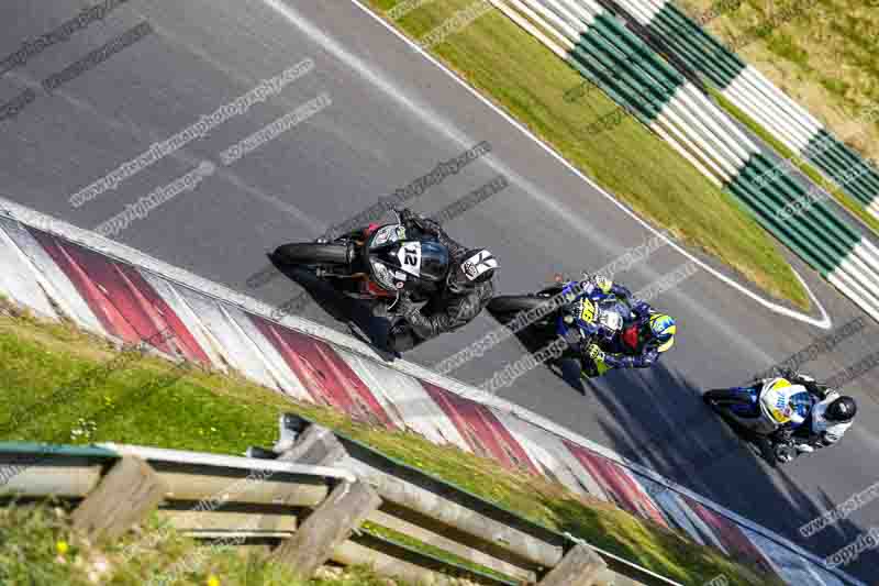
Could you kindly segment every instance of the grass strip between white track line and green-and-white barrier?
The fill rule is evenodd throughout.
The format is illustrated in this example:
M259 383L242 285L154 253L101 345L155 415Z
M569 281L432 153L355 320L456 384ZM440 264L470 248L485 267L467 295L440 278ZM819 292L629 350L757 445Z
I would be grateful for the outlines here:
M379 14L397 3L368 0ZM429 2L392 22L419 40L472 4ZM720 258L772 297L810 307L787 261L734 196L658 136L632 117L589 134L586 129L615 103L600 91L566 101L565 92L582 77L507 16L494 10L430 51L643 218L658 226L680 226L676 236L689 246ZM588 204L583 201L585 209Z

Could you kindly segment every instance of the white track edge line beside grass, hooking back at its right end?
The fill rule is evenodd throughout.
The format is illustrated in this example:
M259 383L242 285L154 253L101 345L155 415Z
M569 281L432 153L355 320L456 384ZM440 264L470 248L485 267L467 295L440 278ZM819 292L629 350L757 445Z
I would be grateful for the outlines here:
M332 45L334 45L334 46L335 46L335 48L336 48L337 51L338 51L338 49L341 49L343 53L345 53L345 54L347 53L347 52L345 52L345 49L344 49L344 48L340 47L340 45L338 45L338 44L337 44L335 41L333 41L333 40L329 38L329 37L327 37L327 36L326 36L324 33L322 33L322 32L320 32L320 31L316 31L316 30L312 30L312 27L310 26L310 24L308 24L308 23L307 23L307 21L304 21L303 19L301 19L301 15L300 15L299 13L297 13L296 11L293 11L292 9L290 9L289 7L287 7L287 5L285 5L283 3L281 3L281 1L280 1L280 0L263 0L263 1L264 1L266 4L268 4L269 7L274 8L274 9L275 9L275 10L277 10L278 12L280 12L281 14L283 14L283 15L285 15L285 16L286 16L288 20L290 20L290 21L291 21L291 22L292 22L292 23L293 23L293 24L294 24L297 27L299 27L299 29L301 29L301 30L303 30L303 31L305 31L307 29L309 29L309 30L307 31L307 33L309 33L309 35L310 35L310 36L312 36L312 37L315 37L315 36L316 36L316 37L323 37L323 38L325 38L325 40L327 41L327 44L332 44ZM810 324L810 325L814 325L814 327L816 327L816 328L821 328L822 330L830 330L830 329L831 329L831 327L833 325L833 321L831 320L830 316L827 314L827 311L824 309L824 306L822 306L822 305L821 305L821 301L820 301L820 300L817 299L817 297L816 297L816 296L815 296L815 295L812 292L812 290L809 288L809 286L805 284L805 281L803 280L803 278L802 278L802 277L799 275L799 273L797 273L797 270L794 270L794 269L793 269L793 267L791 267L791 270L792 270L792 272L793 272L793 274L797 276L797 278L800 280L800 283L803 285L803 287L805 288L806 292L809 294L809 297L811 297L811 298L812 298L812 300L813 300L813 301L815 302L815 305L817 306L817 308L819 308L819 310L820 310L820 312L821 312L821 319L812 318L812 317L810 317L810 316L806 316L805 313L801 313L801 312L799 312L799 311L794 311L794 310L792 310L792 309L788 309L788 308L786 308L786 307L783 307L783 306L780 306L780 305L778 305L778 303L774 303L774 302L771 302L771 301L769 301L769 300L767 300L767 299L764 299L764 298L763 298L763 297L760 297L759 295L757 295L757 294L753 292L752 290L747 289L746 287L743 287L742 285L739 285L739 284L738 284L738 283L736 283L735 280L733 280L732 278L727 277L727 276L726 276L726 275L724 275L723 273L721 273L721 272L719 272L719 270L715 270L714 268L710 267L709 265L706 265L705 263L703 263L702 261L700 261L699 258L697 258L696 256L693 256L692 254L690 254L689 252L687 252L685 248L682 248L681 246L679 246L677 243L675 243L675 242L672 242L672 241L668 240L667 237L665 237L665 236L664 236L664 235L663 235L663 234L661 234L661 233L660 233L658 230L654 229L654 228L653 228L650 224L648 224L647 222L645 222L644 220L642 220L641 218L638 218L638 217L637 217L637 215L636 215L634 212L632 212L632 211L631 211L628 208L626 208L626 207L625 207L625 206L624 206L622 202L617 201L617 200L616 200L616 198L614 198L614 197L613 197L611 194L609 194L608 191L605 191L605 190L604 190L604 189L603 189L601 186L599 186L599 185L598 185L598 184L596 184L596 183L594 183L592 179L590 179L589 177L587 177L586 175L583 175L582 173L580 173L580 170L579 170L579 169L577 169L577 168L576 168L574 165L571 165L570 163L568 163L568 162L567 162L567 161L566 161L566 159L565 159L565 158L564 158L564 157L563 157L560 154L558 154L558 153L557 153L557 152L556 152L554 148L552 148L549 145L545 144L545 143L544 143L544 142L542 142L539 139L537 139L537 137L536 137L534 134L532 134L532 133L531 133L531 131L530 131L528 129L526 129L524 125L522 125L522 124L521 124L519 121L514 120L514 119L513 119L513 118L511 118L509 114L507 114L507 112L504 112L503 110L501 110L500 108L498 108L497 106L494 106L493 103L491 103L491 102L490 102L490 101L489 101L489 100L488 100L486 97L483 97L482 95L480 95L480 93L479 93L478 91L476 91L474 88L471 88L470 86L468 86L468 85L467 85L467 84L466 84L466 82L465 82L463 79L460 79L460 78L459 78L457 75L455 75L455 73L454 73L454 71L452 71L450 69L448 69L448 68L447 68L445 65L443 65L442 63L439 63L439 62L438 62L436 58L434 58L434 57L433 57L431 54L429 54L427 52L423 51L423 49L422 49L422 48L421 48L419 45L416 45L416 44L415 44L415 43L414 43L412 40L410 40L408 36L405 36L405 35L404 35L404 34L402 34L400 31L398 31L397 29L394 29L392 25L390 25L388 22L386 22L383 19L381 19L381 18L380 18L378 14L376 14L375 12L372 12L371 10L369 10L368 8L366 8L366 7L365 7L365 5L364 5L364 4L363 4L363 3L361 3L359 0L351 0L351 2L352 2L353 4L355 4L357 8L359 8L361 11L364 11L366 14L368 14L370 18L372 18L374 20L376 20L378 23L380 23L380 24L381 24L381 25L382 25L385 29L387 29L388 31L390 31L390 32L391 32L393 35L396 35L398 38L400 38L401 41L403 41L404 43L407 43L407 44L408 44L408 45L409 45L409 46L410 46L412 49L414 49L415 52L420 53L420 54L421 54L423 57L425 57L427 60L430 60L430 62L431 62L433 65L435 65L436 67L438 67L438 68L439 68L439 69L442 69L443 71L445 71L445 73L446 73L446 75L448 75L449 77L452 77L452 78L453 78L455 81L457 81L457 82L458 82L458 84L459 84L461 87L466 88L466 89L467 89L467 91L469 91L469 92L470 92L470 93L471 93L474 97L476 97L476 98L477 98L479 101L481 101L483 104L486 104L487 107L489 107L491 110L493 110L493 111L494 111L497 114L499 114L499 115L500 115L501 118L503 118L503 119L504 119L507 122L509 122L510 124L512 124L514 128L519 129L519 130L520 130L520 131L521 131L521 132L522 132L522 133L523 133L525 136L527 136L528 139L531 139L531 140L534 142L534 143L538 144L538 145L539 145L539 146L541 146L541 147L542 147L544 151L546 151L546 152L547 152L547 153L548 153L550 156L555 157L555 158L556 158L556 159L557 159L559 163L561 163L561 164L563 164L565 167L567 167L567 168L568 168L568 170L570 170L570 172L571 172L571 173L574 173L574 174L575 174L577 177L579 177L580 179L582 179L583 181L586 181L586 183L587 183L587 184L588 184L588 185L589 185L589 186L590 186L592 189L594 189L596 191L598 191L599 194L601 194L602 196L604 196L604 198L607 198L608 200L610 200L611 202L613 202L613 204L614 204L614 206L616 206L616 207L617 207L620 210L622 210L622 211L623 211L623 212L624 212L626 215L628 215L630 218L632 218L633 220L635 220L637 223L639 223L642 226L644 226L644 228L645 228L647 231L649 231L650 233L653 233L653 234L655 234L655 235L657 235L657 236L661 237L663 240L665 240L665 241L668 243L668 245L669 245L669 246L671 246L672 248L675 248L675 250L676 250L677 252L679 252L679 253L680 253L682 256L685 256L685 257L689 258L690 261L692 261L692 262L697 263L697 264L698 264L698 265L699 265L699 266L700 266L700 267L701 267L703 270L705 270L706 273L710 273L711 275L713 275L714 277L716 277L717 279L720 279L722 283L724 283L724 284L728 285L730 287L732 287L732 288L734 288L734 289L738 290L739 292L742 292L742 294L744 294L745 296L749 297L750 299L755 300L757 303L759 303L759 305L761 305L763 307L765 307L765 308L769 309L770 311L774 311L774 312L776 312L776 313L779 313L779 314L781 314L781 316L786 316L786 317L788 317L788 318L791 318L791 319L793 319L793 320L798 320L798 321L801 321L801 322L808 323L808 324ZM296 15L296 16L297 16L297 19L296 19L296 20L293 19L293 15ZM338 53L337 53L337 54L338 54ZM355 57L355 59L356 59L356 57ZM359 60L359 59L357 59L357 60ZM370 75L370 74L368 73L368 70L361 70L361 73L363 73L363 75L365 75L365 76L367 76L367 77L370 77L370 78L374 78L374 77L375 77L375 76ZM377 85L379 85L380 87L382 87L382 89L386 89L386 91L387 91L387 89L388 89L388 88L387 88L387 84L386 84L383 80L377 80ZM393 93L397 93L397 92L393 92ZM399 93L397 93L397 95L399 96ZM402 99L402 98L401 98L401 99ZM405 101L408 101L408 100L405 100ZM410 103L410 106L411 106L411 103Z

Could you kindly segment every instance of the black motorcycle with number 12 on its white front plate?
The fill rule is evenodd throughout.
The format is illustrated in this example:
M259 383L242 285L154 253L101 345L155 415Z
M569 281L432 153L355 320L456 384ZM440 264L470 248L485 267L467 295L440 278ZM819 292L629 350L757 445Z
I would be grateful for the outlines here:
M388 310L401 295L426 300L445 284L448 250L433 235L408 234L400 214L396 210L394 214L394 223L369 224L333 242L283 244L271 258L311 269L342 294L378 300Z

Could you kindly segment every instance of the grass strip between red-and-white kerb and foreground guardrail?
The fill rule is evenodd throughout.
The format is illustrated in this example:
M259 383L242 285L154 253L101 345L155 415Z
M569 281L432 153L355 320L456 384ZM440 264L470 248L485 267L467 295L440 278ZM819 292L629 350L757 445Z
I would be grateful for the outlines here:
M0 408L0 440L113 441L241 454L249 445L274 444L279 413L297 412L682 584L701 585L721 574L735 585L782 584L608 502L508 471L457 447L434 445L411 432L376 429L329 408L291 401L236 376L199 369L181 376L182 371L168 362L138 356L123 371L77 385L76 392L65 395L60 391L71 388L71 382L81 380L118 352L69 324L36 320L8 303L0 303L2 308L7 314L0 316L0 388L5 400ZM14 430L10 430L12 412L27 414L26 420L15 418L20 424Z

